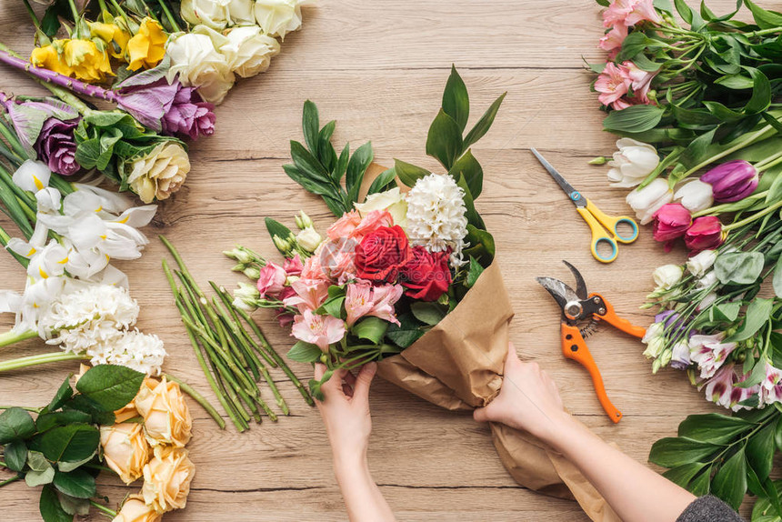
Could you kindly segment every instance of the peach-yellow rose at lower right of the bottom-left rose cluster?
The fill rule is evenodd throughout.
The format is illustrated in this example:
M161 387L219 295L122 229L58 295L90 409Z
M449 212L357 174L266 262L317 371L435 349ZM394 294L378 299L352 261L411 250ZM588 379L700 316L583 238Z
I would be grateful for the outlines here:
M155 447L155 457L144 467L141 495L158 513L185 507L195 466L181 447Z

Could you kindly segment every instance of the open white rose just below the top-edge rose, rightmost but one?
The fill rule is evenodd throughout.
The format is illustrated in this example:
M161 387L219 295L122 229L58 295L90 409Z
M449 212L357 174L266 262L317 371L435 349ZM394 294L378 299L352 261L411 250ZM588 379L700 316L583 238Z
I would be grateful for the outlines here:
M269 68L272 56L280 52L280 43L261 33L257 25L234 27L226 34L228 39L220 47L231 72L249 78Z

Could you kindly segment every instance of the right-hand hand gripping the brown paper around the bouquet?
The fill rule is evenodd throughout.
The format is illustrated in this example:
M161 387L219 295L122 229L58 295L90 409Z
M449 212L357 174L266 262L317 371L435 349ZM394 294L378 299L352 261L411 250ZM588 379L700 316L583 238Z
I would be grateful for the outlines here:
M569 418L556 384L537 363L522 362L508 344L502 388L486 407L477 408L478 422L500 422L548 440Z

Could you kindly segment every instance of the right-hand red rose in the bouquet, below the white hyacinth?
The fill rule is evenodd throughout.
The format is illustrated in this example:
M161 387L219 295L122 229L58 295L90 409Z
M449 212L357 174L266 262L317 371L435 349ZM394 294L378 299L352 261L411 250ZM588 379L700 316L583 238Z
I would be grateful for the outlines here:
M413 247L413 258L399 273L405 295L422 301L436 301L451 286L448 268L450 252L429 252L423 246Z

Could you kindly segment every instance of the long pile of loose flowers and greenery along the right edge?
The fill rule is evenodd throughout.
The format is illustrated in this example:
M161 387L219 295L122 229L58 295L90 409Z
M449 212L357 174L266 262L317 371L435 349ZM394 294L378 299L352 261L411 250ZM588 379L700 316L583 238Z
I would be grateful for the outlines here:
M636 187L627 204L667 251L680 239L689 251L654 273L644 354L653 372L685 370L737 412L687 417L649 458L733 507L748 489L759 498L752 520L779 520L782 489L769 475L782 449L782 15L747 0L747 24L734 19L740 2L715 15L677 1L682 26L667 2L604 5L599 45L610 55L593 67L594 88L604 127L622 136L609 180Z

